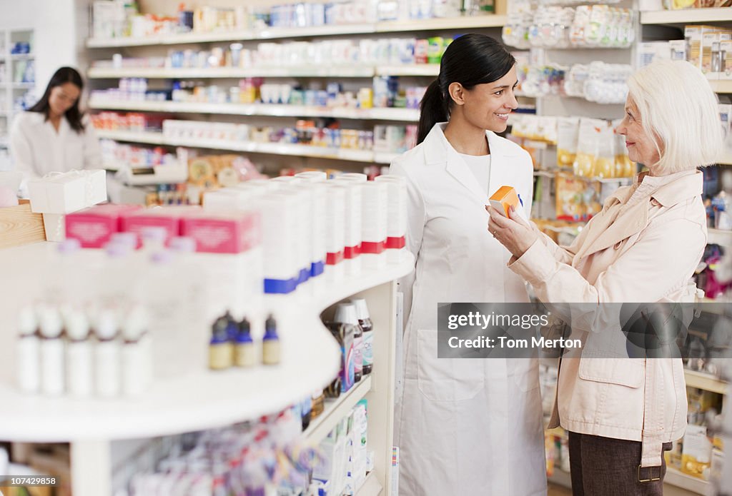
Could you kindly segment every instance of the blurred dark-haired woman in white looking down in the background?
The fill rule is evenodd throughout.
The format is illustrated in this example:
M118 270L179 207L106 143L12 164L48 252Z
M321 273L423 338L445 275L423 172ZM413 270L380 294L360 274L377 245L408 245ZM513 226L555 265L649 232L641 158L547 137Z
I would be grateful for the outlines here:
M89 118L79 110L81 75L61 67L51 77L41 99L15 118L10 153L25 179L48 172L101 167L101 150Z

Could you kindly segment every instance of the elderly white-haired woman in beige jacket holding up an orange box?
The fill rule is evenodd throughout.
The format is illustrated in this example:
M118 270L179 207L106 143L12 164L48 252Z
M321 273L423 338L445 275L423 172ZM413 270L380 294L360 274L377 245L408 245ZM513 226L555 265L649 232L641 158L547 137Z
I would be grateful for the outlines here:
M509 268L542 302L693 301L707 237L697 168L720 153L717 99L685 61L646 66L628 87L616 132L649 172L608 198L569 248L486 207ZM561 360L550 427L569 431L573 494L661 495L662 452L684 434L686 412L681 359Z

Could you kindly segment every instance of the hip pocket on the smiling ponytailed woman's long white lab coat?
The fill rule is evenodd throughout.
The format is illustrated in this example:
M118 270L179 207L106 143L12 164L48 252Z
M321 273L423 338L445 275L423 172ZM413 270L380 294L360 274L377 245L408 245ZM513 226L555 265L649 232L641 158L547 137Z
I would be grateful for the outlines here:
M433 401L463 401L483 389L485 360L438 358L437 331L417 331L417 384Z

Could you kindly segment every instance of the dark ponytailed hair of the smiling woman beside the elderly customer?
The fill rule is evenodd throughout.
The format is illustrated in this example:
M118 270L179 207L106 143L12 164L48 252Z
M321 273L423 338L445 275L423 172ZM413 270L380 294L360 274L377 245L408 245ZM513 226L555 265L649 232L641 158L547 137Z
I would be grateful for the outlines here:
M464 34L450 43L440 62L440 74L419 104L417 144L425 140L436 123L449 118L453 105L447 94L449 85L460 83L471 90L475 85L493 83L504 77L514 64L516 59L506 47L485 34Z

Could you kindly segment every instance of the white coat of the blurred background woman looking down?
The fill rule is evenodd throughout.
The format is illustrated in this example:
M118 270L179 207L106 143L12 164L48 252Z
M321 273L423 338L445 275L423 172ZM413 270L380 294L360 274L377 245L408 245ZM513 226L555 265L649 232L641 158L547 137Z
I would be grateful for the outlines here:
M18 114L10 131L10 153L15 170L25 179L38 178L48 172L72 169L102 169L102 154L89 118L84 116L84 131L74 131L67 119L61 118L59 131L41 112Z

